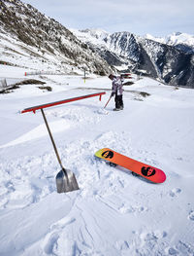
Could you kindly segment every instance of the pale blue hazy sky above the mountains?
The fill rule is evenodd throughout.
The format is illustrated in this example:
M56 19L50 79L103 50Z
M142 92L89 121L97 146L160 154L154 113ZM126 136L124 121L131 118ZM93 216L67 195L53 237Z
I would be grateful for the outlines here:
M22 0L21 0L22 1ZM67 28L194 35L194 0L23 0Z

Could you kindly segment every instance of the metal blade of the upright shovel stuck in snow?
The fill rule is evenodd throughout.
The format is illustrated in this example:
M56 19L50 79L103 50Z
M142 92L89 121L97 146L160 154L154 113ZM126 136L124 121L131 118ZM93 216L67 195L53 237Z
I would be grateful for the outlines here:
M79 190L75 174L70 169L61 169L56 175L57 193Z

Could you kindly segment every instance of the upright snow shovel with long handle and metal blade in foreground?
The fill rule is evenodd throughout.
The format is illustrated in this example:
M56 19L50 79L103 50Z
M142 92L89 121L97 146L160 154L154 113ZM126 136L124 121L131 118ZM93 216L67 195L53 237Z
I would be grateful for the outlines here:
M70 191L79 190L79 185L78 185L75 174L70 169L64 168L61 163L61 160L59 158L58 151L56 149L56 145L54 143L51 131L49 129L49 124L48 124L48 121L46 119L43 109L41 109L41 112L42 112L46 127L48 128L48 131L49 131L49 137L51 139L51 142L52 142L52 145L54 148L54 152L56 154L56 158L58 160L59 165L61 166L61 170L57 173L56 178L55 178L57 193L66 193L66 192L70 192Z

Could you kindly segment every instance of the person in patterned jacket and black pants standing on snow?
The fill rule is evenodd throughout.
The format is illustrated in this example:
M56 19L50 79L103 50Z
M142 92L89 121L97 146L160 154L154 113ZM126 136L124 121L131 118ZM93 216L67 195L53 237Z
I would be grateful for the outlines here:
M114 111L122 110L123 109L123 100L122 100L122 92L123 92L123 85L122 85L122 78L116 77L111 74L109 78L112 80L112 94L111 96L115 95L114 101L115 101L115 108Z

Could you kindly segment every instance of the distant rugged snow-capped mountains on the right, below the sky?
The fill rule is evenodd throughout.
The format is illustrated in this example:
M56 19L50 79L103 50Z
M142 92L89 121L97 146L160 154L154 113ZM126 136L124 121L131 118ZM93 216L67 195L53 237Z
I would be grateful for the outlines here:
M178 43L180 41L175 45L169 38L167 44L129 32L103 32L100 37L94 30L92 33L89 30L73 32L118 69L141 70L167 84L194 87L194 55L190 51L185 52L186 46L183 49ZM192 45L192 40L189 42Z

